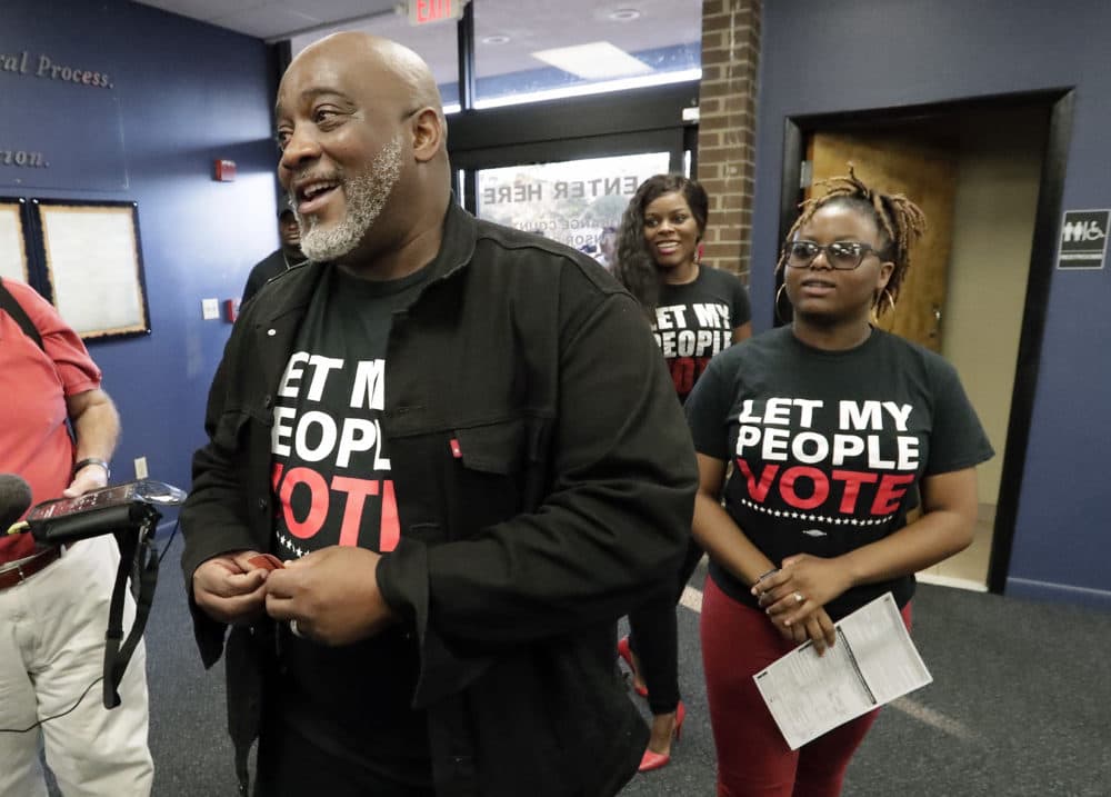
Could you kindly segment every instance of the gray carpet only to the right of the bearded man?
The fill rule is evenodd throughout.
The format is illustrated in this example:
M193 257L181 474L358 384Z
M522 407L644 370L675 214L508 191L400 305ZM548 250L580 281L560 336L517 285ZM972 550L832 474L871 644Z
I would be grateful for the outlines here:
M919 585L913 638L933 683L880 714L844 797L1111 795L1111 614ZM680 646L683 738L669 767L622 797L714 794L698 615L688 609Z

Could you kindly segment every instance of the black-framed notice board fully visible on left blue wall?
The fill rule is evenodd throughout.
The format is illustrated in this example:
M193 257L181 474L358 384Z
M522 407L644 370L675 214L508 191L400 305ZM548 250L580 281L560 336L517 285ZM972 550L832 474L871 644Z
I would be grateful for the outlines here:
M32 199L50 299L82 338L150 332L134 202Z

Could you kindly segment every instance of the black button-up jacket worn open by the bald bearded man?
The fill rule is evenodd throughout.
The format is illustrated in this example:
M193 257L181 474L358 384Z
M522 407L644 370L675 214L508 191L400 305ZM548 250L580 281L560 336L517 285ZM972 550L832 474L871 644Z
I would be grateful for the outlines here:
M386 358L402 538L378 578L418 638L437 794L613 795L647 743L614 622L674 578L693 511L674 388L638 305L585 256L452 205L430 268ZM232 330L181 517L187 585L271 547L272 395L322 271L271 281ZM226 629L193 619L211 666ZM228 639L241 775L272 634Z

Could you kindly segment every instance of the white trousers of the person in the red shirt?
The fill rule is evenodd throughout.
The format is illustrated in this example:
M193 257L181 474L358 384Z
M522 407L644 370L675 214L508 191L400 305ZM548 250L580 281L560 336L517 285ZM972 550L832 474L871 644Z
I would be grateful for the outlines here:
M103 683L78 703L103 675L119 559L110 535L93 537L0 590L0 797L47 797L40 741L66 797L149 797L154 767L147 746L143 645L120 684L120 706L104 708ZM129 594L124 634L133 618ZM47 717L54 718L9 733Z

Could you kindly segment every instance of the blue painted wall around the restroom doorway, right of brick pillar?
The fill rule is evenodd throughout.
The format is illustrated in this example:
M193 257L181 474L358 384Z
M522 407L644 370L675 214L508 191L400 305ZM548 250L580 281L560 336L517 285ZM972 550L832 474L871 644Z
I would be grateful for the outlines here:
M785 117L1075 87L1063 208L1111 207L1111 3L763 3L753 320L772 323ZM1111 269L1057 271L1008 592L1111 606Z

